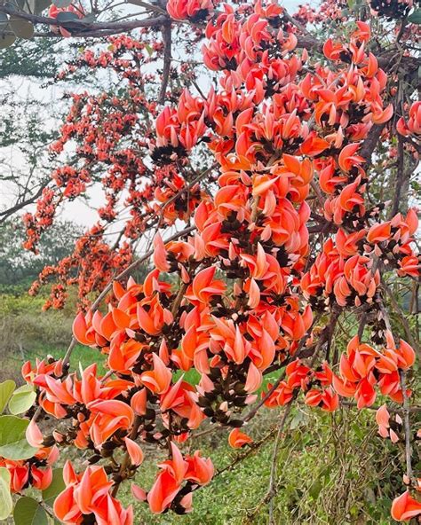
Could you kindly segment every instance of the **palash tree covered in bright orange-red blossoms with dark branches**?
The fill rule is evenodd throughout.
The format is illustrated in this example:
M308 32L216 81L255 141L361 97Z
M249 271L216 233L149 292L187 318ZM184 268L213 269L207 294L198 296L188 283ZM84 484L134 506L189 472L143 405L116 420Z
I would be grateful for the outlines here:
M4 404L12 396L10 411L25 416L0 419L13 425L1 435L1 487L46 490L52 502L52 464L61 446L74 446L90 466L64 467L52 504L60 521L132 523L118 499L123 483L153 513L187 513L215 475L211 458L183 452L199 427L226 427L232 447L255 450L261 442L246 423L263 406L284 407L268 429L275 466L294 404L355 405L376 408L380 436L404 443L391 512L419 517L409 385L419 340L391 290L409 283L416 311L417 6L325 2L290 16L275 3L136 4L151 16L99 22L95 4L88 12L60 2L49 17L0 6L24 25L50 25L52 38L107 36L60 76L90 67L115 78L108 92L72 95L52 145L52 181L25 216L26 247L36 250L65 200L102 185L99 223L33 287L57 278L47 306L60 307L77 285L81 311L64 358L24 364L19 391L3 384ZM135 282L131 272L149 260ZM340 354L345 312L357 326ZM76 341L98 349L105 375L96 364L70 370ZM184 376L192 369L195 385ZM57 420L52 431L46 415ZM151 487L132 482L145 443L168 450ZM274 496L274 472L262 505ZM3 517L11 508L7 496ZM23 511L50 512L32 498L18 501L15 521Z

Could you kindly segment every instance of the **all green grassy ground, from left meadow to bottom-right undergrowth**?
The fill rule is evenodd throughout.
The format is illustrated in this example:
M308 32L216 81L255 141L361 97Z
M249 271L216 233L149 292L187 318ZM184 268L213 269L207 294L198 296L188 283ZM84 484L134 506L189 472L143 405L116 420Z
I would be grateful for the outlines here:
M19 381L24 360L47 354L63 356L71 338L74 310L42 312L43 298L27 295L0 296L1 380ZM78 345L71 364L77 368L101 357L94 349ZM275 374L274 374L275 377ZM197 374L186 379L192 383ZM271 378L272 380L274 378ZM21 380L20 380L21 382ZM216 476L208 487L195 493L193 513L178 516L152 515L147 505L135 504L138 525L243 525L266 524L269 505L266 493L273 463L274 435L282 411L262 410L246 432L258 450L233 451L227 445L227 430L190 440L184 450L201 450L211 456ZM333 415L298 404L281 436L276 461L276 483L272 500L274 522L282 525L386 525L391 499L401 493L403 447L380 439L374 412L337 411ZM209 425L204 426L209 428ZM202 429L201 429L202 430ZM269 435L272 432L272 435ZM269 435L269 436L268 436ZM156 473L156 463L165 451L148 449L136 482L146 490ZM238 455L250 455L237 461ZM68 458L74 451L64 451ZM223 471L223 472L220 472ZM130 487L123 485L123 503L132 502Z

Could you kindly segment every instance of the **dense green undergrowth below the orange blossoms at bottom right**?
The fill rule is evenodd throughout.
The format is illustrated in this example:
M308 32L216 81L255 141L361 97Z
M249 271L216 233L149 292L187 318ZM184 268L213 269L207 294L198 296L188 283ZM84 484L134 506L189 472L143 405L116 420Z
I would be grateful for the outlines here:
M280 410L263 410L246 431L257 442L279 424ZM266 525L265 498L273 461L274 434L258 451L218 474L249 449L234 451L227 430L195 441L211 456L216 475L198 490L193 513L152 515L135 504L135 522L147 525ZM135 482L149 489L162 456L147 457ZM277 457L274 523L282 525L390 525L390 505L401 486L402 451L377 435L372 411L344 410L331 415L298 405L290 414ZM123 503L132 503L123 485Z

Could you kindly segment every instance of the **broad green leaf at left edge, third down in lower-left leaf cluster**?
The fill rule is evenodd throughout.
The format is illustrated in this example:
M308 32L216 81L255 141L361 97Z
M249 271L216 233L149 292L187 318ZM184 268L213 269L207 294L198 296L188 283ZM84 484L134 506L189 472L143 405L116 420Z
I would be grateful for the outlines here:
M32 458L38 449L31 447L25 432L28 419L16 416L0 416L0 456L7 459Z

